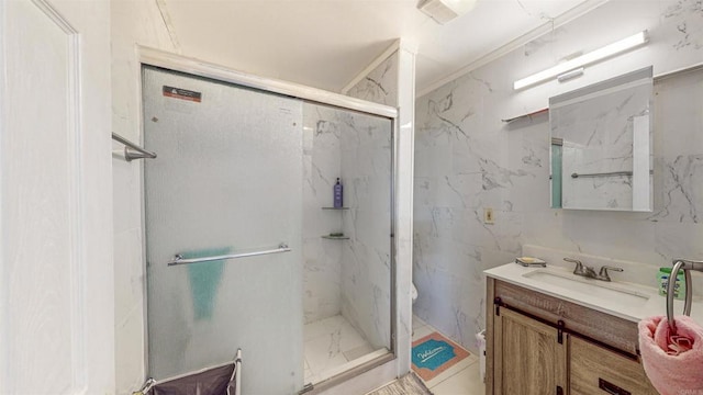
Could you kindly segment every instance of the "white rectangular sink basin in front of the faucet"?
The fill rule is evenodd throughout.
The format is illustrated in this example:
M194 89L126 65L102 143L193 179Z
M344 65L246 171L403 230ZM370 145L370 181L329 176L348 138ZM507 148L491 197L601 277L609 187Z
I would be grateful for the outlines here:
M566 292L574 292L588 297L616 302L629 308L643 307L649 301L649 295L637 292L628 285L617 282L587 279L570 273L545 269L537 269L523 274L523 276L544 284L557 286Z

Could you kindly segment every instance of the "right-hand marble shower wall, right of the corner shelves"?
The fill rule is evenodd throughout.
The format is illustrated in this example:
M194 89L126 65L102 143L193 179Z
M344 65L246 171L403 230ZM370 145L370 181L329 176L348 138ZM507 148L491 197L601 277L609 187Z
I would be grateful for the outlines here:
M391 121L339 112L345 205L342 315L375 347L390 348Z

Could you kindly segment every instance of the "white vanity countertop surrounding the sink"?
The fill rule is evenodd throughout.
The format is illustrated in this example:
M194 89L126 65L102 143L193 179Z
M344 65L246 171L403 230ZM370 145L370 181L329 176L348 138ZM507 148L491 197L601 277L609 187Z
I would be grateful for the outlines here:
M559 278L566 279L565 284L555 285L554 282L547 283L542 281L535 275L536 273L534 273L538 271L554 274L551 278L556 279L556 282L558 282ZM559 297L634 323L637 323L645 317L656 315L666 316L667 314L667 300L663 296L659 296L658 290L655 287L623 281L613 281L609 283L600 280L585 279L574 275L572 270L558 266L548 264L547 268L525 268L511 262L487 270L484 273L486 275L496 280L542 292L544 294ZM580 284L585 284L585 286L579 286L581 290L570 289L569 284L573 283L570 283L569 280L577 281ZM603 295L599 296L599 286L625 290L632 295L637 296L629 297L629 295L623 295L628 297L622 298L603 297ZM584 292L588 291L589 287L592 287L594 292ZM635 303L628 303L626 300L634 300ZM674 315L680 315L682 314L681 312L683 312L683 301L674 301ZM700 296L693 296L691 317L695 319L695 321L703 324L703 300Z

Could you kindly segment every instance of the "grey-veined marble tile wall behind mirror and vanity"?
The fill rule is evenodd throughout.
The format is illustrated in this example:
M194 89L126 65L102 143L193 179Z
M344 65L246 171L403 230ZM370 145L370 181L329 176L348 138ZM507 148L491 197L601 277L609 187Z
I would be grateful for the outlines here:
M650 43L583 77L522 91L512 82L648 30ZM501 120L547 106L549 97L654 65L655 76L703 59L700 1L612 0L416 101L413 280L415 314L476 351L484 327L482 271L526 244L669 266L703 259L703 72L655 83L654 211L549 208L549 117ZM495 223L483 223L483 210Z

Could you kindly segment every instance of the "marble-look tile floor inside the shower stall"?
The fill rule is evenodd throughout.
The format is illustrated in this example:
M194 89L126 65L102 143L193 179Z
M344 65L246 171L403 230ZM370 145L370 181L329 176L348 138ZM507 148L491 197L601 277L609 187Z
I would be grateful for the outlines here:
M376 350L341 315L305 325L303 329L305 383L316 383L384 354Z

